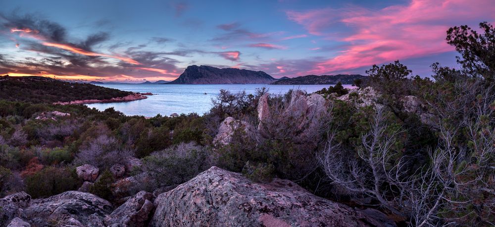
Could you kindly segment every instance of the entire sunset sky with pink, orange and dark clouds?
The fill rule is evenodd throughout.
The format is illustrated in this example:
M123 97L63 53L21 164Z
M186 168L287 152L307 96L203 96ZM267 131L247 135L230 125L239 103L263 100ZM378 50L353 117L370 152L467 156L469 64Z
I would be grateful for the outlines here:
M452 26L495 22L493 0L0 0L0 74L173 80L188 65L275 78L458 67Z

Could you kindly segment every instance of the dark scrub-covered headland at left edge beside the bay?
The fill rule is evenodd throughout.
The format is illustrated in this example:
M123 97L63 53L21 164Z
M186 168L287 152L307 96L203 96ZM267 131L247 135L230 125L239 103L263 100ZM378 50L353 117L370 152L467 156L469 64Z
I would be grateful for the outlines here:
M90 83L70 83L41 76L0 76L0 100L32 103L106 100L133 94Z

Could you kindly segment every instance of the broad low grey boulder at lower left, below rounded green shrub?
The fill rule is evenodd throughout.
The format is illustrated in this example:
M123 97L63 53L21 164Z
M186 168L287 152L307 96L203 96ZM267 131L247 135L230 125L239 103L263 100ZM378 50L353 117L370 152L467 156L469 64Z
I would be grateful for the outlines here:
M111 211L112 205L96 195L66 191L46 199L32 201L31 205L24 209L24 214L27 220L36 226L46 226L53 220L65 223L70 218L87 225L90 215L96 214L103 218Z

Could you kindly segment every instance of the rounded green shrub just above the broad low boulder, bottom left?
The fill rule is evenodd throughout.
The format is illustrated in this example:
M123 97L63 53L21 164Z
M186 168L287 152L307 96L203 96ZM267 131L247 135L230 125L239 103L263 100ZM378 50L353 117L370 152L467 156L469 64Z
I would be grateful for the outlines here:
M46 167L27 176L25 183L26 192L33 198L49 197L81 186L75 169L56 167Z

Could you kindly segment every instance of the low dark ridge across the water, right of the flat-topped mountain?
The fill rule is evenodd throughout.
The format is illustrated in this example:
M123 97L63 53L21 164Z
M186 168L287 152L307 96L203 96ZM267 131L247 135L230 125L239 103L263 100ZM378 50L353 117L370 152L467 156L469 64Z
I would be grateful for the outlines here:
M298 76L289 79L280 79L272 82L271 84L275 85L305 85L305 84L336 84L337 82L341 82L343 84L352 84L355 79L363 79L366 76L359 74L339 74L339 75L307 75L307 76Z

